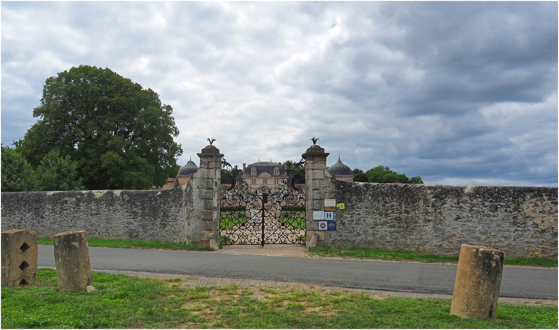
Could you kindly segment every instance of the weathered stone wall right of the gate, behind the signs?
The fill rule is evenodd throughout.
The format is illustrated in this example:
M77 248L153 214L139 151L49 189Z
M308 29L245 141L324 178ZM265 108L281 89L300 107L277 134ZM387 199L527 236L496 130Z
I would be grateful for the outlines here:
M326 194L345 203L328 245L458 255L471 244L557 258L557 187L324 181Z

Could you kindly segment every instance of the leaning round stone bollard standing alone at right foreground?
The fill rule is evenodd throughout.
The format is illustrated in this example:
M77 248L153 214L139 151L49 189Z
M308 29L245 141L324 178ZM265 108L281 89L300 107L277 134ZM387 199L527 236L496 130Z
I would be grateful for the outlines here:
M462 245L454 282L451 315L495 318L505 252Z

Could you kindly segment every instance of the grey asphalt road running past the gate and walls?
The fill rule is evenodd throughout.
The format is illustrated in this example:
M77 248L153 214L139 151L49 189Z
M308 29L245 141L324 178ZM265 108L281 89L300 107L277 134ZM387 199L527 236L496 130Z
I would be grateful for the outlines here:
M344 288L452 294L456 265L228 255L90 247L94 270L291 281ZM54 247L39 245L39 266L54 267ZM505 267L500 296L557 300L557 269Z

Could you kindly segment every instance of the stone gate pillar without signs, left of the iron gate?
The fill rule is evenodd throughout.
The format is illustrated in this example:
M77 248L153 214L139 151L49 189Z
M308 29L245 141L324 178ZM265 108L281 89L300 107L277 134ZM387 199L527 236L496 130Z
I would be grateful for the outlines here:
M219 209L221 195L221 157L215 146L206 146L200 154L200 169L192 174L190 232L192 243L219 248ZM210 233L214 233L210 244Z

